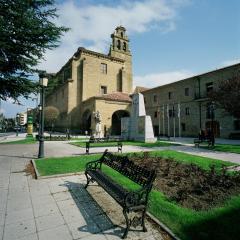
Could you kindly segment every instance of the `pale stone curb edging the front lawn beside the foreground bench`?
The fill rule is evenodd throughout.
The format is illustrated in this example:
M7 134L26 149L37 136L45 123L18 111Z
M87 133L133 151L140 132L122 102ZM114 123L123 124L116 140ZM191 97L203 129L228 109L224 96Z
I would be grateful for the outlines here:
M76 172L76 173L65 173L65 174L56 174L50 176L41 176L37 170L35 159L31 160L36 172L37 179L48 179L48 178L56 178L56 177L67 177L67 176L74 176L74 175L81 175L83 172ZM178 238L164 223L160 222L157 218L155 218L151 213L147 212L146 215L157 225L159 225L165 232L167 232L174 240L181 240Z

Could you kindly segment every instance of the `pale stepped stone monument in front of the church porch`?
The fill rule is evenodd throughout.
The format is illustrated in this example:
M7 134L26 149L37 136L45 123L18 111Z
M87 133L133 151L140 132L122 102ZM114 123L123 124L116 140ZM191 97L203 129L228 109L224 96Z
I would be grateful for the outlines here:
M156 142L152 119L146 115L144 98L141 93L132 95L130 117L121 118L121 137L125 140Z

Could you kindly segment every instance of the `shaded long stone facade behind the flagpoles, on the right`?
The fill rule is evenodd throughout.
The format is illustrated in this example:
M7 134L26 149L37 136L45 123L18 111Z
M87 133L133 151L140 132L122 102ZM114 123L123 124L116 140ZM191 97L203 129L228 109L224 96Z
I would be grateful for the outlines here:
M221 80L239 71L240 64L236 64L143 91L146 112L152 117L155 135L196 137L200 129L210 128L212 119L208 91L216 89ZM228 138L232 133L239 133L240 129L236 129L234 121L236 119L223 109L216 108L213 119L215 135Z

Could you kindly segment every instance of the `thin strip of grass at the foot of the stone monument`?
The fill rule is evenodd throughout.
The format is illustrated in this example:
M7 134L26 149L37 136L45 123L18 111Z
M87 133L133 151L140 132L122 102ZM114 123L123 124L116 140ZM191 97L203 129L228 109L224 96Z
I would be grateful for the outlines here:
M86 147L86 142L72 142L70 144L78 147ZM140 147L168 147L168 146L179 145L179 144L169 143L165 141L157 141L155 143L123 141L122 144L123 146L131 145L131 146L140 146ZM113 146L117 146L117 142L90 143L90 147L113 147Z

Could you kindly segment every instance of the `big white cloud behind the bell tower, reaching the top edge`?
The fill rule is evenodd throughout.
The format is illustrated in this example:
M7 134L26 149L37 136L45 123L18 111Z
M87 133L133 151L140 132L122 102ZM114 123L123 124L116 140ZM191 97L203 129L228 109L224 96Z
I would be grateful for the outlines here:
M79 46L94 51L107 51L110 34L120 23L128 34L142 33L156 28L162 33L173 31L177 10L189 0L119 1L113 5L76 4L67 0L58 5L58 25L71 30L62 37L60 47L47 51L40 69L56 72L67 62ZM81 1L80 1L81 3Z

